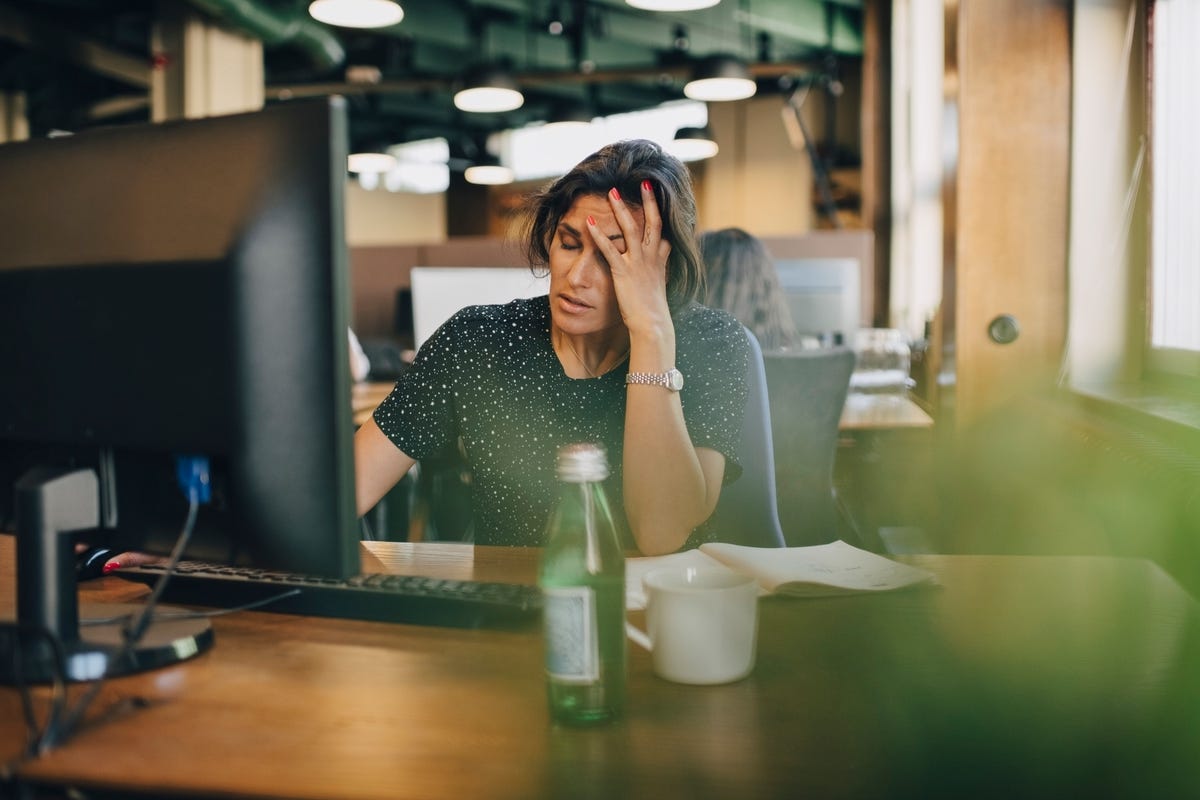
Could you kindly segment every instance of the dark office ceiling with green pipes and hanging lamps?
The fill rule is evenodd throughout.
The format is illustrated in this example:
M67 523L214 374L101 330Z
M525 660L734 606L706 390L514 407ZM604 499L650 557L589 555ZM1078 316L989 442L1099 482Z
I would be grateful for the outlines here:
M404 19L358 31L314 22L307 0L0 0L0 90L24 92L32 136L149 119L158 14L206 14L264 42L266 97L338 92L355 144L481 140L571 103L594 115L682 98L696 60L746 60L760 92L835 79L862 56L863 0L721 0L694 12L624 0L401 0ZM508 64L526 94L504 114L464 114L463 71ZM139 83L144 67L145 77Z

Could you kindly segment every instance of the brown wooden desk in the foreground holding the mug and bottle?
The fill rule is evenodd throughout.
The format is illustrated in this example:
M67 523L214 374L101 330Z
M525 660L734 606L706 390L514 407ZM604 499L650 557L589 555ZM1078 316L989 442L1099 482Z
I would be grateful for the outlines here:
M372 543L368 567L532 581L536 551ZM12 607L0 537L0 609ZM246 612L216 646L112 681L145 708L19 776L161 795L1195 798L1195 602L1136 560L919 557L942 587L761 602L754 674L691 687L630 649L629 710L552 726L541 639ZM88 599L143 591L116 578ZM0 688L0 757L20 750Z

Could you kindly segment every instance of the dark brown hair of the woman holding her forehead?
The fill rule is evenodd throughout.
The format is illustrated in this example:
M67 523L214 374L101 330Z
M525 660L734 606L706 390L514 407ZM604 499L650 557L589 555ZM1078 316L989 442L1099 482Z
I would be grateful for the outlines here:
M605 197L616 187L630 207L640 207L642 181L654 187L662 217L662 239L671 242L667 302L677 309L704 295L704 267L696 245L696 196L682 161L646 139L605 145L571 172L534 193L522 228L529 264L550 264L550 245L558 223L580 197Z

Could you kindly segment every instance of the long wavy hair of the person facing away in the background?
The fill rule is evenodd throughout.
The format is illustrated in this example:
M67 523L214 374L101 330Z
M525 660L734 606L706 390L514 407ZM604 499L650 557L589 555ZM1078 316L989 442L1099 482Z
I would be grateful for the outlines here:
M762 241L740 228L709 230L700 236L700 252L708 270L709 306L733 314L764 350L797 343L775 263Z

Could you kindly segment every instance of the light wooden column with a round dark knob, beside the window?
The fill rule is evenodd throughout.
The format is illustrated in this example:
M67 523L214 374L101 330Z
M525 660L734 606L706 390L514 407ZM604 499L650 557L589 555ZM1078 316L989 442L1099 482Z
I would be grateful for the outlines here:
M1067 323L1069 0L958 5L960 423L1054 385ZM1019 336L989 338L1010 314Z

